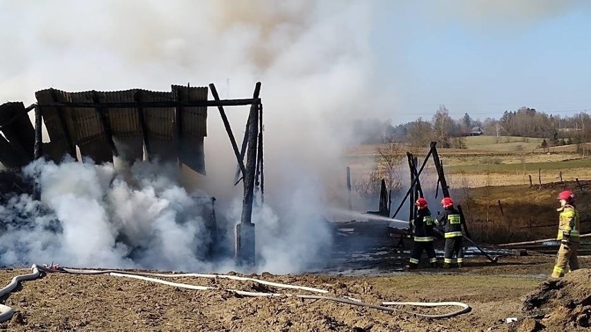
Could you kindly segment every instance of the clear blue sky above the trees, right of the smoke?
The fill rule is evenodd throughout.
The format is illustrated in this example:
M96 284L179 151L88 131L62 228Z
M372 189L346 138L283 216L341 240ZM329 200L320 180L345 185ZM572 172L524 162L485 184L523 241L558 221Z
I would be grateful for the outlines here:
M393 95L393 123L452 117L498 118L535 107L551 114L591 110L591 12L588 4L553 8L460 8L466 1L376 1L371 47L377 81ZM562 4L561 4L562 2ZM540 6L547 4L538 1ZM472 12L470 12L472 10ZM512 12L513 11L513 12Z

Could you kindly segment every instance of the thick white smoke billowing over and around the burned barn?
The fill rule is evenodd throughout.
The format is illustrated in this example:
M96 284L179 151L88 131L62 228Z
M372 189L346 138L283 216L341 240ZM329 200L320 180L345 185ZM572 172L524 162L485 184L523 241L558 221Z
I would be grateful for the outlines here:
M261 81L266 206L253 216L257 253L263 270L296 272L332 241L322 216L327 193L339 197L345 188L343 123L371 108L371 14L366 1L2 1L0 100L33 103L47 87L167 91L187 82L214 82L221 98L248 98ZM240 142L248 107L226 112ZM233 186L236 160L213 108L205 156L207 177L185 169L182 183L215 196L231 230L242 191ZM174 176L144 167L152 166L136 165L128 178L112 166L31 166L44 182L47 214L30 211L36 236L4 233L1 263L24 259L17 248L27 248L35 262L215 268L194 254L212 238L191 220L187 193ZM28 198L14 204L41 209ZM52 235L47 223L62 233Z

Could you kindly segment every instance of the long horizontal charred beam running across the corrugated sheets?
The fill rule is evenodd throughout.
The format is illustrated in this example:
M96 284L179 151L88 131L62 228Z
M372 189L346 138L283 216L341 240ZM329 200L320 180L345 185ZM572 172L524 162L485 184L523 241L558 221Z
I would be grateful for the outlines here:
M211 85L210 85L211 87ZM45 103L42 107L80 107L80 108L151 108L151 107L220 107L220 106L244 106L261 103L260 98L247 99L218 99L215 101L145 101L145 102L117 102L117 103L85 103L63 102Z

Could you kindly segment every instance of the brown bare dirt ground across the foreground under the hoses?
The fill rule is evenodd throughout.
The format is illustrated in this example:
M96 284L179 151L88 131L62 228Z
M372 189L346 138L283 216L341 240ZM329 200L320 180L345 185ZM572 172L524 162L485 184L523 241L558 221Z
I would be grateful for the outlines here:
M591 257L581 257L589 267ZM472 307L445 320L429 320L408 313L388 313L325 300L295 297L240 297L223 290L189 290L109 275L49 273L25 281L1 299L15 310L1 325L8 331L539 331L523 330L536 321L507 324L507 317L531 315L524 307L529 295L545 285L554 257L506 256L496 265L482 257L467 260L462 269L419 269L361 277L345 274L252 275L257 279L329 290L328 295L350 296L371 304L380 302L463 302ZM28 269L0 270L0 284ZM585 270L583 270L585 271ZM589 270L586 270L589 271ZM575 272L571 273L574 274ZM588 273L588 272L587 272ZM588 273L589 274L589 273ZM586 274L585 274L586 275ZM215 288L311 294L261 286L252 281L205 278L166 278ZM586 279L585 291L591 288ZM557 289L556 284L554 288ZM561 292L563 294L564 292ZM534 295L531 295L534 294ZM591 298L591 295L588 295ZM589 300L587 299L589 302ZM542 300L535 302L542 303ZM545 304L551 306L551 302ZM402 308L401 308L402 309ZM404 308L420 313L438 309ZM539 310L537 311L539 314ZM529 318L529 320L533 320ZM540 321L542 322L542 321ZM538 325L536 325L538 324ZM576 324L567 325L576 328ZM574 331L563 322L545 322L543 331Z

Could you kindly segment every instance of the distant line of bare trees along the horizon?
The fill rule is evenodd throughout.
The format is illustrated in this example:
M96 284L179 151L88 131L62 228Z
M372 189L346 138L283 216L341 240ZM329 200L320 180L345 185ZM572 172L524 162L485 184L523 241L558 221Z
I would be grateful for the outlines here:
M591 142L591 116L580 112L560 116L538 112L535 108L521 107L505 111L499 119L474 120L466 113L452 119L445 105L440 105L431 121L418 118L409 123L392 125L391 121L377 119L357 121L354 125L359 143L406 143L426 147L437 141L442 148L465 148L465 137L471 134L487 136L520 136L545 139L546 146L582 144Z

